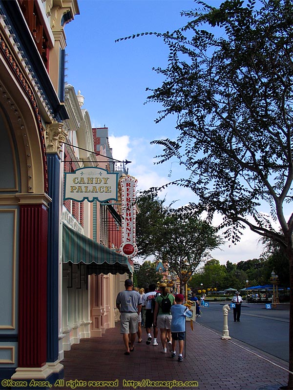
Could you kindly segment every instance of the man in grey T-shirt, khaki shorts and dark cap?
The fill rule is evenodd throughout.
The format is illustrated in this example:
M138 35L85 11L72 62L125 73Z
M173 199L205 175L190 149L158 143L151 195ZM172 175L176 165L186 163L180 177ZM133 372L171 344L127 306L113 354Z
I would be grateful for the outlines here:
M133 290L131 279L126 279L124 285L125 291L121 291L117 295L116 307L120 312L120 333L123 334L126 348L124 354L129 355L130 352L134 351L134 342L138 331L138 317L142 310L142 297L139 292ZM130 333L130 340L128 333Z

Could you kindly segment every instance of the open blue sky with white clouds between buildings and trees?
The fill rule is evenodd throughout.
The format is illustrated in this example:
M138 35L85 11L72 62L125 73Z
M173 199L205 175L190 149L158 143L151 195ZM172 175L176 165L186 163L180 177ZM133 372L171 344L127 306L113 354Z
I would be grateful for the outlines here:
M219 0L209 4L220 5ZM65 27L66 77L76 93L81 91L92 127L108 127L113 157L129 160L129 174L138 179L138 190L157 187L185 175L176 161L154 164L161 150L150 142L175 137L175 118L159 124L154 120L160 107L146 103L146 88L160 86L162 77L153 68L167 65L163 40L147 35L115 42L143 32L172 31L186 24L181 11L198 7L189 0L78 0L80 15ZM174 207L195 201L181 187L159 193ZM218 218L215 218L218 219ZM240 243L226 243L211 253L221 264L258 258L260 236L249 229Z

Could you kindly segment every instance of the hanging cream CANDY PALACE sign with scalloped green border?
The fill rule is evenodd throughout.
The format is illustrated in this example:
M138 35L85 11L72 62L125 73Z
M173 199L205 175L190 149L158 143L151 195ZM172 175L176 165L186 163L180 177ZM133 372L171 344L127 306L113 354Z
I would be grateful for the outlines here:
M64 200L72 199L83 202L118 199L118 173L110 173L103 168L80 168L75 172L65 173Z

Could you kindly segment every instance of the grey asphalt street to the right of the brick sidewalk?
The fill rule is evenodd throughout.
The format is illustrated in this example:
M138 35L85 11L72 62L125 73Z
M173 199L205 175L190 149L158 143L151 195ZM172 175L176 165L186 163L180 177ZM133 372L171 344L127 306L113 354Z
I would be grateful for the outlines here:
M230 302L227 302L230 304ZM226 302L210 302L197 318L199 324L223 331L223 306ZM233 309L228 316L229 334L261 351L289 361L289 304L280 309L265 309L265 304L246 304L241 308L240 322L233 322Z

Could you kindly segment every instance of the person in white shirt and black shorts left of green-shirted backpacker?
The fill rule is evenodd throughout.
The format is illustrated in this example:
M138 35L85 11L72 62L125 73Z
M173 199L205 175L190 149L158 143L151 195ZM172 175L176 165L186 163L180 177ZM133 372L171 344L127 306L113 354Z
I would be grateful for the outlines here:
M143 297L143 305L146 306L146 334L147 334L147 340L146 345L149 345L151 342L151 334L150 329L153 327L154 331L154 339L153 339L153 346L156 347L158 345L157 343L157 336L158 336L158 328L154 325L154 310L155 310L155 299L160 293L157 293L156 285L151 283L148 286L149 292L146 292Z

